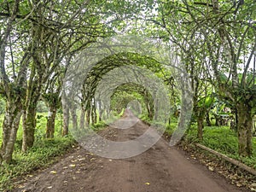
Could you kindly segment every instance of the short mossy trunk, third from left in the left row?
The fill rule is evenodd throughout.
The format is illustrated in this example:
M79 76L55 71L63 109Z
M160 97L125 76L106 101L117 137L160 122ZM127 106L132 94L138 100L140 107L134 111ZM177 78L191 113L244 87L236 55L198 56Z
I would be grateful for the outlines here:
M53 138L55 136L55 117L57 109L55 106L49 107L49 113L47 117L46 125L46 138Z

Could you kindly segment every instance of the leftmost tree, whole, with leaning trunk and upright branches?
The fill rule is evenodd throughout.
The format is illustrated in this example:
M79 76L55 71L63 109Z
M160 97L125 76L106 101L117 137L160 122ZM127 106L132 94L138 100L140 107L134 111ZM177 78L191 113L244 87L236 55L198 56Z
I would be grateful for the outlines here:
M4 1L0 6L0 67L1 67L1 94L6 101L5 115L3 119L3 142L0 148L0 161L9 163L12 160L12 154L15 146L15 138L18 131L22 102L26 96L26 70L31 58L29 54L32 44L25 46L23 53L20 55L20 61L15 62L12 55L11 68L6 63L7 50L10 49L11 54L11 35L15 34L17 28L17 20L19 15L20 1L13 2ZM23 18L25 20L26 18ZM15 26L16 25L16 26ZM20 30L22 27L20 27ZM15 39L19 40L20 35L17 34ZM22 37L21 37L22 38ZM24 38L22 38L24 40ZM29 38L26 38L29 40ZM9 43L9 44L8 44ZM17 63L19 63L17 67ZM18 69L17 69L18 68ZM11 74L9 75L9 72Z

